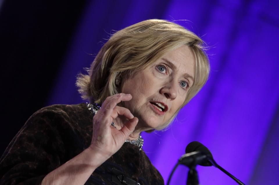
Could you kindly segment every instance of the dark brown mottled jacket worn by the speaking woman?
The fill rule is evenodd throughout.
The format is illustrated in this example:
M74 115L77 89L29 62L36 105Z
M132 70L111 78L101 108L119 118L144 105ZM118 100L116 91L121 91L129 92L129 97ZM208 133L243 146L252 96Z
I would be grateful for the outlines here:
M41 184L52 170L90 145L92 114L85 103L52 105L35 112L11 141L0 159L0 185ZM74 166L73 166L74 168ZM141 185L164 184L144 151L124 143L99 166L85 184L115 185L112 168Z

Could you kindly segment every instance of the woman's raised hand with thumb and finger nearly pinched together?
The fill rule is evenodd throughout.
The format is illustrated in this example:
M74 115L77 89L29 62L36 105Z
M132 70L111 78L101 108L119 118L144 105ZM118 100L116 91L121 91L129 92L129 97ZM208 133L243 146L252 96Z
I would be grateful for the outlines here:
M105 99L101 109L93 117L93 136L90 148L98 151L106 159L117 152L128 136L135 130L138 118L129 109L117 106L121 101L132 99L130 94L115 94ZM124 117L124 124L118 130L111 126L114 119ZM117 124L117 123L116 123ZM119 124L117 124L119 126Z

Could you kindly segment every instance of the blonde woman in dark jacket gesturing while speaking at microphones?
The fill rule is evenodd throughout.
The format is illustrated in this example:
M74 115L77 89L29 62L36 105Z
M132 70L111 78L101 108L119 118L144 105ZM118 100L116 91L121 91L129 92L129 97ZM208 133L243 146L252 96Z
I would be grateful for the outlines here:
M0 184L164 184L140 133L166 128L203 87L202 44L157 19L113 34L77 79L90 103L33 114L1 157Z

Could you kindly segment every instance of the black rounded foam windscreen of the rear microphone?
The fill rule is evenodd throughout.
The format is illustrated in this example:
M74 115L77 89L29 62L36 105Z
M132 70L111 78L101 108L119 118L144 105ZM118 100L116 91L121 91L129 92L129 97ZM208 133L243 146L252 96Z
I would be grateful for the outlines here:
M208 148L206 148L206 146L204 146L203 144L201 144L198 141L193 141L193 142L189 143L185 149L185 153L196 152L196 151L203 152L205 155L207 155L208 157L213 159L212 154L208 150ZM212 166L210 161L206 161L200 165L201 166Z

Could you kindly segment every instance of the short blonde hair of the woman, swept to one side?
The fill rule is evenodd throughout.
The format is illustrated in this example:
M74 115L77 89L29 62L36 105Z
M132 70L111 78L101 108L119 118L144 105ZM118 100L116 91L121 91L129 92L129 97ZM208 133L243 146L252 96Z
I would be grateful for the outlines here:
M210 64L202 39L186 28L166 20L149 19L114 33L92 62L89 75L78 75L78 91L83 99L102 104L108 96L120 93L115 85L116 78L145 69L168 51L182 45L189 46L194 53L195 76L181 109L208 80Z

